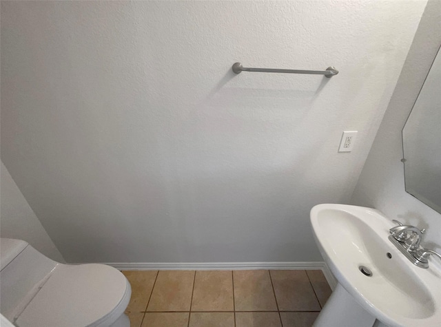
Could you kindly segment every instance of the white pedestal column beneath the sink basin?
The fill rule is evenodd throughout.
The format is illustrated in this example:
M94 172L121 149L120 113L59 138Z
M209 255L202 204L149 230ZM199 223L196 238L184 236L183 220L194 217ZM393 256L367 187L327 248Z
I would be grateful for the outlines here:
M314 322L314 327L372 327L375 320L343 286L337 284Z

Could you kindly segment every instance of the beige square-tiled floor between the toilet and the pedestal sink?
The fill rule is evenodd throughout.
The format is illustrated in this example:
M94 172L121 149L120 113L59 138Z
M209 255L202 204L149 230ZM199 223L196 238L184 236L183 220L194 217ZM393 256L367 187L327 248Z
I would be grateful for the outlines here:
M331 288L322 271L123 271L131 327L310 327Z

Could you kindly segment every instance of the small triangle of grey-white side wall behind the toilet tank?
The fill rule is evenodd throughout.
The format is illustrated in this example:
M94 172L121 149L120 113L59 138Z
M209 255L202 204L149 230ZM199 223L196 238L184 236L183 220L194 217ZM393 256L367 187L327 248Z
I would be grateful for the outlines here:
M0 179L1 237L25 240L52 260L64 262L63 256L41 226L41 222L29 207L3 162L1 162Z

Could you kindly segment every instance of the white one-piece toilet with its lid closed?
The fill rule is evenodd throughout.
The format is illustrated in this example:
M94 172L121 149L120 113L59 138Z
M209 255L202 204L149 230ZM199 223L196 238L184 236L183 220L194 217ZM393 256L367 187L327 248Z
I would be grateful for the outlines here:
M105 264L60 264L1 238L0 312L19 327L130 327L132 289Z

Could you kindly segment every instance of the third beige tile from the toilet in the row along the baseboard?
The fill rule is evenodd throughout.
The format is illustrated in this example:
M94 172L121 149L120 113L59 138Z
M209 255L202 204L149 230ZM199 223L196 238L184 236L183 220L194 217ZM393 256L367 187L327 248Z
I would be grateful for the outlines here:
M192 311L233 311L231 271L196 271Z

